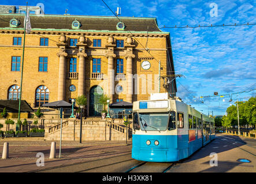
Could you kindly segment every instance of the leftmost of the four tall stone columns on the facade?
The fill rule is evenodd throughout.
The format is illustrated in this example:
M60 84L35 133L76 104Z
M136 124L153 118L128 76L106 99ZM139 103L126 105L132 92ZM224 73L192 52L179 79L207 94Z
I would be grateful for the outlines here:
M60 64L59 64L59 78L58 78L58 101L65 100L65 77L66 77L66 56L68 53L65 51L60 51L57 53L57 56L60 57Z

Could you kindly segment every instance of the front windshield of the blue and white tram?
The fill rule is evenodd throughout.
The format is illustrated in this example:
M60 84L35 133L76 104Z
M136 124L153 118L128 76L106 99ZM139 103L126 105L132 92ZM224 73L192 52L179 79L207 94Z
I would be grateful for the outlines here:
M169 112L139 113L142 131L165 131L168 125Z

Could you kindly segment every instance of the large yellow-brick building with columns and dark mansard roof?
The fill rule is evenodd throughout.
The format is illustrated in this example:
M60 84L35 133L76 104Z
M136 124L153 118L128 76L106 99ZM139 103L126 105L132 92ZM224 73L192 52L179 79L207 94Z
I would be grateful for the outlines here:
M24 16L0 14L0 99L20 95ZM175 96L176 81L164 88L159 80L159 74L175 74L175 69L170 35L158 28L156 18L29 17L21 99L32 108L84 94L88 115L98 116L102 94L110 103L149 99L158 92Z

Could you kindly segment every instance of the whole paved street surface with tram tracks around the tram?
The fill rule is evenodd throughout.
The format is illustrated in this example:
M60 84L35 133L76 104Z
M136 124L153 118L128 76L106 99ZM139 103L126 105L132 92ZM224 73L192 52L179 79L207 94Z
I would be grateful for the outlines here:
M0 160L0 172L66 173L201 173L256 172L256 139L217 135L187 159L171 163L143 162L131 158L132 145L66 145L63 158L47 159L49 146L10 147L10 159ZM0 149L1 151L1 149ZM36 166L36 152L43 152L43 167ZM215 154L210 157L210 154ZM58 150L57 150L58 155ZM211 159L216 158L214 162ZM248 159L249 163L238 159ZM210 163L213 163L212 165Z

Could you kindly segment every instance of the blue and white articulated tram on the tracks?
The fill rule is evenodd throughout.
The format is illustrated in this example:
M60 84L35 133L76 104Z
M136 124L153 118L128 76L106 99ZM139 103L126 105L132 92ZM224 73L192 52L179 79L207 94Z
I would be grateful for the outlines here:
M214 138L213 118L180 98L133 102L133 159L175 162Z

